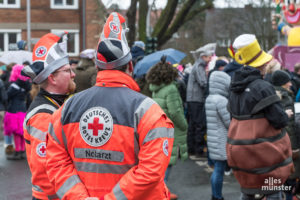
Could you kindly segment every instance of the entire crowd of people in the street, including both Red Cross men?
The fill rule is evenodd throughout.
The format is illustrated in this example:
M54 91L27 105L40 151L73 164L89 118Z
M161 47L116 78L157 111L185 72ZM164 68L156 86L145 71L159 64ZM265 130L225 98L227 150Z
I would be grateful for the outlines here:
M27 158L33 200L177 199L166 183L188 158L207 161L212 200L224 200L225 171L233 171L242 200L300 194L300 64L288 71L243 34L232 58L207 44L193 66L163 56L134 80L145 44L130 49L124 23L111 13L97 49L81 52L79 62L69 61L66 32L48 33L32 64L1 71L5 155ZM264 190L270 177L289 190Z

